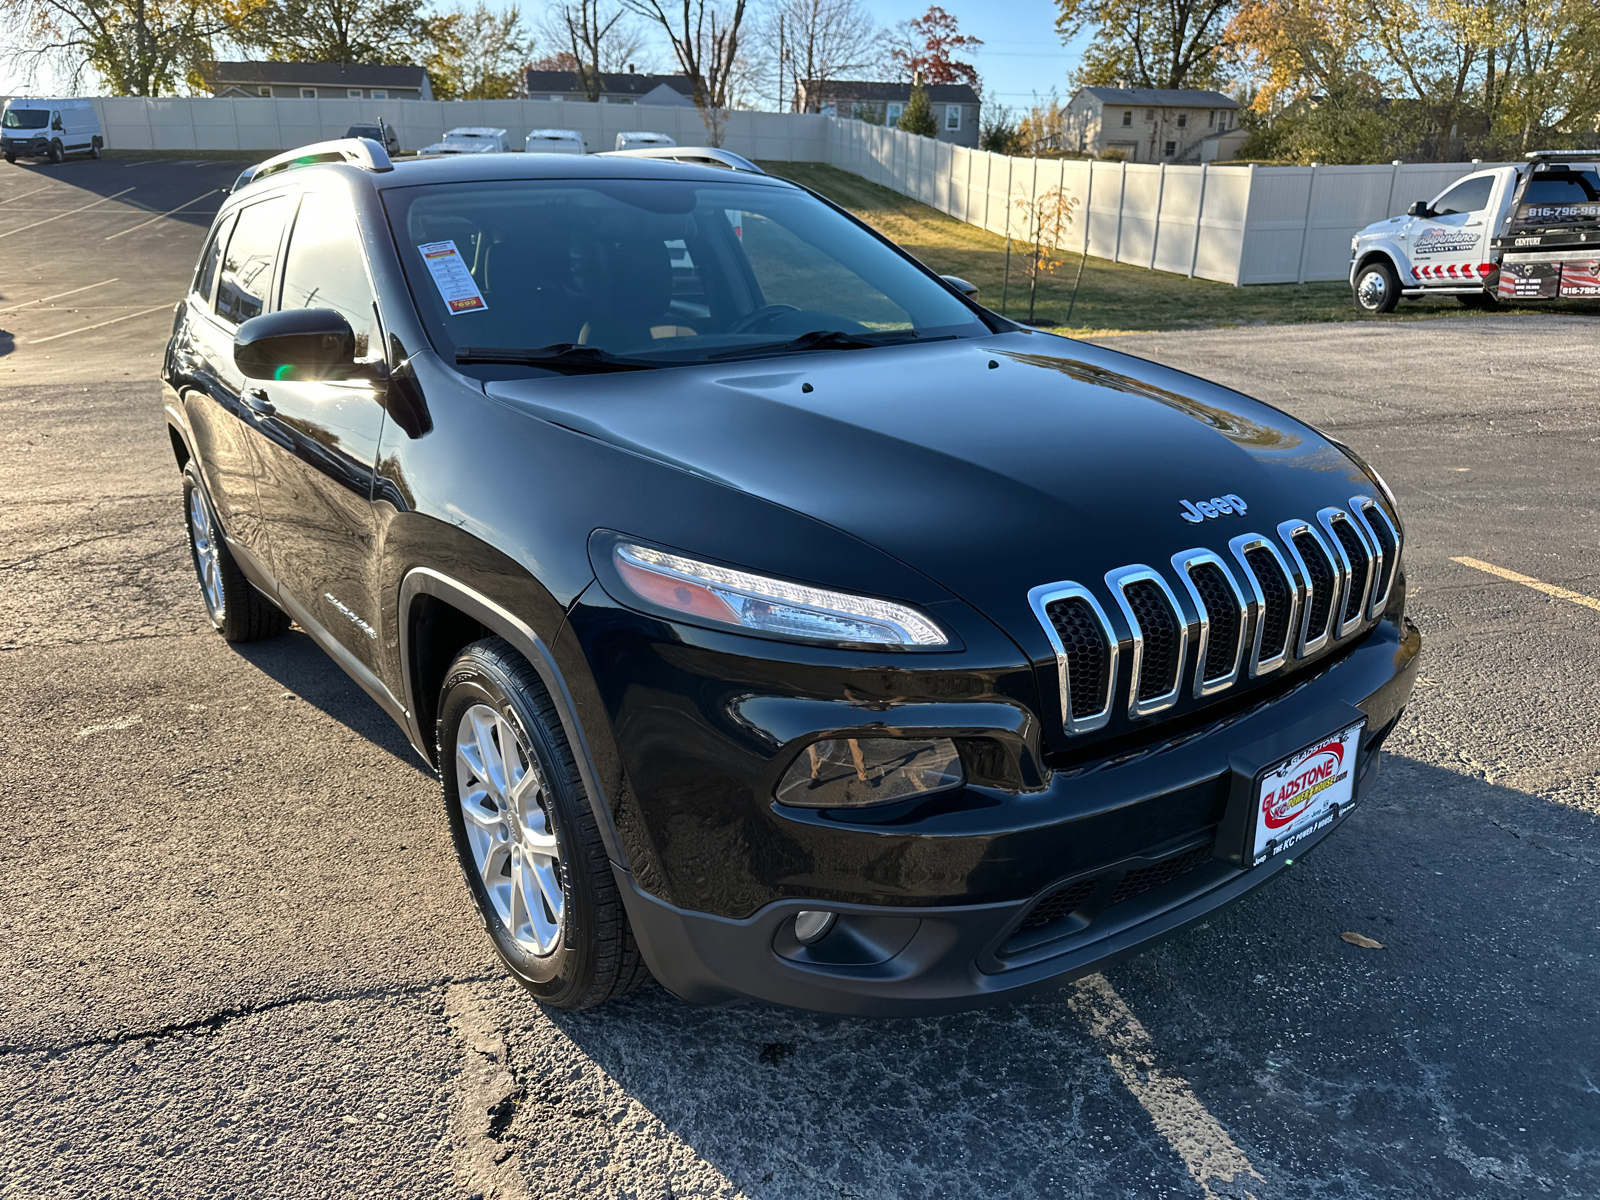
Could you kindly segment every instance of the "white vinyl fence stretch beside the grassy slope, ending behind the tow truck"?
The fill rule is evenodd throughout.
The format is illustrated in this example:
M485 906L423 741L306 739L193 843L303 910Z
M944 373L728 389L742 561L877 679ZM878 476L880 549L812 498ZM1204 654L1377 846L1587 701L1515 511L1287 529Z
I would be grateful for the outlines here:
M827 149L834 166L1018 238L1029 234L1019 202L1059 187L1077 202L1064 250L1224 283L1342 280L1355 230L1483 170L1010 158L862 122L832 122Z

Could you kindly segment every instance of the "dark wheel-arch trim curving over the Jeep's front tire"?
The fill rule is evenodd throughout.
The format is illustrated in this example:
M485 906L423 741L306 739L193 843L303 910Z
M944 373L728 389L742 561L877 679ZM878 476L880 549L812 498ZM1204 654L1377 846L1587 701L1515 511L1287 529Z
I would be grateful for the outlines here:
M573 749L573 762L578 763L578 774L582 779L584 792L589 795L589 806L594 811L595 824L600 827L600 837L605 842L606 856L613 864L627 870L627 858L622 853L622 843L618 838L616 824L611 819L611 805L600 787L600 773L595 770L594 754L589 749L589 739L578 720L578 709L573 704L573 696L566 688L566 680L562 677L560 669L555 666L555 658L550 654L550 648L546 645L544 638L539 637L515 613L502 608L482 592L467 587L459 579L451 579L448 574L435 571L430 566L413 566L400 581L400 683L402 702L405 704L406 712L406 736L411 739L411 744L422 754L424 758L429 762L434 760L427 731L418 725L418 706L413 691L414 683L411 678L411 608L419 595L432 595L453 605L454 608L459 608L480 626L491 630L496 637L506 638L506 642L515 646L518 654L528 659L528 664L538 672L539 682L544 683L544 690L555 704L557 714L560 714L562 730L566 733L566 744ZM443 770L443 763L438 765L440 770Z

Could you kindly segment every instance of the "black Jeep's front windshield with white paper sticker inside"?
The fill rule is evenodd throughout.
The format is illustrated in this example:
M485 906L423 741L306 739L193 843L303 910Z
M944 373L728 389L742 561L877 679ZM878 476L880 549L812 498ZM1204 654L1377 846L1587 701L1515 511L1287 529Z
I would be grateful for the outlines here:
M528 179L384 200L435 349L498 376L990 333L938 280L795 187Z

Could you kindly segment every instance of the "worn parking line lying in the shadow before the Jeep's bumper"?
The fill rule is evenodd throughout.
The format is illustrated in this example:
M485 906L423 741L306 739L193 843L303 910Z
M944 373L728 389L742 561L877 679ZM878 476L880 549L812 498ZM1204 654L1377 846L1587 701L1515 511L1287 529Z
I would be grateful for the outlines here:
M1091 974L1075 982L1067 990L1067 1005L1106 1045L1112 1070L1150 1114L1155 1128L1208 1198L1216 1197L1213 1181L1232 1184L1242 1174L1262 1179L1227 1130L1206 1112L1189 1082L1155 1066L1155 1043L1106 976Z

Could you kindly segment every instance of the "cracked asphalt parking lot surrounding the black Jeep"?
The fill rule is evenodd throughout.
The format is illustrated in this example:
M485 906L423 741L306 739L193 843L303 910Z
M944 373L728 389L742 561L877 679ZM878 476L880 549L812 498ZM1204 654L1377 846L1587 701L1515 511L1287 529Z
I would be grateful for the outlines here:
M1408 518L1422 680L1283 882L979 1013L549 1014L400 733L205 621L155 373L237 170L0 165L0 1197L1600 1195L1600 315L1114 342Z

